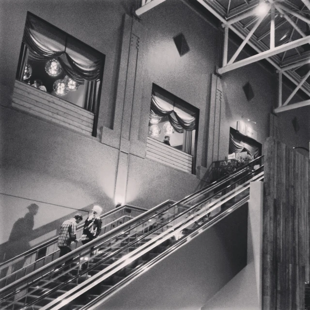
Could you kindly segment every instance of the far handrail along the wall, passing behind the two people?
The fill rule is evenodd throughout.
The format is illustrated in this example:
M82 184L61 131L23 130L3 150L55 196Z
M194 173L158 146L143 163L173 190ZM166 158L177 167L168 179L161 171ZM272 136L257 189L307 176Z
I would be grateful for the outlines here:
M130 205L130 204L124 204L124 205L121 205L121 206L119 206L119 207L117 207L117 208L115 208L113 210L110 210L110 211L106 212L105 214L101 215L100 217L101 217L101 219L103 219L105 217L109 217L111 214L116 213L116 212L118 212L118 211L120 211L122 209L132 209L132 210L143 211L143 212L147 211L147 209L145 209L145 208L133 206L133 205ZM81 224L81 225L78 225L77 231L82 229L83 226L84 226L84 223ZM12 263L12 262L18 260L19 258L22 258L24 256L30 255L31 253L34 253L34 252L40 250L41 248L45 248L45 247L55 243L57 240L58 240L58 236L53 237L53 238L49 239L48 241L46 241L46 242L44 242L44 243L42 243L42 244L40 244L40 245L38 245L38 246L36 246L34 248L29 249L28 251L25 251L25 252L23 252L21 254L16 255L15 257L12 257L11 259L9 259L9 260L7 260L5 262L0 263L0 269L4 265Z

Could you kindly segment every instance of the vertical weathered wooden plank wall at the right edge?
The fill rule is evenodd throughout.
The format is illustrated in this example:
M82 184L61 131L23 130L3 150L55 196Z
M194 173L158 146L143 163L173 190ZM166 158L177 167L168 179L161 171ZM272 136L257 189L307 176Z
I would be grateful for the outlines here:
M309 281L309 158L264 145L263 310L305 309Z

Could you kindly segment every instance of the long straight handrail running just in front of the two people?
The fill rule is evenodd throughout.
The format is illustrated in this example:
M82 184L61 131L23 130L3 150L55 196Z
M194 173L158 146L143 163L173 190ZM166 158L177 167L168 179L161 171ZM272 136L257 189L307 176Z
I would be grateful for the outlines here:
M258 169L260 169L261 167L262 167L262 166L260 166ZM258 170L258 169L256 169L256 170ZM252 171L252 172L253 172L253 171ZM230 186L231 186L231 185L227 186L227 188L230 187ZM226 188L226 187L225 187L225 188ZM221 189L221 191L224 190L225 188ZM196 194L196 193L194 193L194 194ZM194 194L193 194L193 195L194 195ZM189 196L190 196L190 195L189 195ZM187 197L186 197L186 198L187 198ZM185 199L186 199L186 198L185 198ZM169 210L172 206L175 206L175 205L177 205L177 204L182 203L185 199L182 199L180 202L175 202L175 203L173 203L173 204L172 204L171 206L169 206L166 210ZM21 284L22 282L24 282L24 281L26 281L26 280L28 280L28 279L31 279L32 277L34 277L34 276L40 274L40 273L41 273L42 271L44 271L45 269L48 269L48 268L51 268L51 267L53 267L53 266L59 265L59 264L61 264L61 263L64 263L64 262L67 261L68 259L74 257L78 252L81 252L81 251L83 251L84 249L86 249L86 248L88 248L88 247L93 247L93 246L95 246L95 244L98 243L98 242L99 242L100 240L102 240L103 238L108 238L109 236L113 235L114 233L122 232L123 229L124 229L126 226L130 226L130 225L133 224L134 222L139 221L140 219L142 219L143 217L147 217L148 215L150 215L150 214L152 214L152 213L155 213L155 211L156 211L157 209L159 209L160 207L162 207L162 206L165 205L166 203L167 203L167 201L166 201L166 202L163 202L163 203L161 203L161 204L159 204L159 205L157 205L157 206L155 206L155 207L153 207L152 209L150 209L150 210L144 212L143 214L139 215L138 217L135 217L135 218L129 220L128 222L126 222L126 223L124 223L124 224L122 224L122 225L120 225L120 226L114 228L113 230L111 230L111 231L109 231L109 232L107 232L107 233L105 233L105 234L99 236L98 238L93 239L93 240L90 241L89 243L87 243L87 244L85 244L85 245L83 245L83 246L81 246L81 247L79 247L79 248L76 248L76 249L72 250L70 253L68 253L68 254L66 254L66 255L64 255L64 256L62 256L61 258L58 258L58 259L54 260L53 262L48 263L47 265L44 265L44 266L42 266L41 268L39 268L39 269L37 269L37 270L31 272L30 274L26 275L25 277L20 278L20 279L18 279L18 280L16 280L16 281L12 282L11 284L9 284L9 285L5 286L4 288L0 289L0 294L2 294L3 292L9 290L10 288L13 288L14 286L17 286L17 285ZM189 210L191 210L191 209L192 209L192 207L189 208ZM161 212L164 212L164 211L165 211L165 210L162 210ZM188 210L186 210L186 211L183 212L183 213L186 213L187 211L188 211ZM183 213L181 213L181 214L183 214ZM180 216L181 216L181 214L180 214ZM139 225L140 225L140 224L141 224L141 223L139 223Z

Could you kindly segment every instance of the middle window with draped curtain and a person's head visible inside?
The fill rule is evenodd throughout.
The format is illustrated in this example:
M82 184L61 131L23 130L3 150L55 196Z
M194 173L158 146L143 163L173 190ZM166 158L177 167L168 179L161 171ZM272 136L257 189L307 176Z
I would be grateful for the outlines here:
M153 85L149 137L195 155L198 119L199 109Z

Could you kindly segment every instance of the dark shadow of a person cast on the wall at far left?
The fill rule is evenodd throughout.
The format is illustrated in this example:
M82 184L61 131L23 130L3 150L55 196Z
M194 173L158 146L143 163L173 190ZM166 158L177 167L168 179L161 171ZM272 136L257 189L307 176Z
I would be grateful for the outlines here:
M39 206L35 203L31 203L28 207L28 213L24 217L20 217L13 224L9 240L7 242L5 251L5 261L8 261L19 254L28 251L31 246L29 242L32 240L32 232L34 226L34 216L38 213ZM26 257L21 258L12 264L13 273L23 267ZM1 273L2 277L7 274L8 268ZM3 275L4 274L4 275Z

